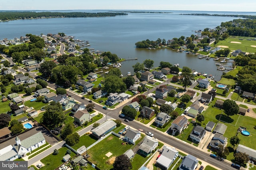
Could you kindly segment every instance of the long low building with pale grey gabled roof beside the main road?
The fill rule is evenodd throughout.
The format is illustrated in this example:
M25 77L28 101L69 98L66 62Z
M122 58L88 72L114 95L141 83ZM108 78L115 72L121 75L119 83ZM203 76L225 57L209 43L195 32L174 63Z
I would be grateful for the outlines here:
M100 124L98 127L92 129L91 132L94 137L100 139L100 137L108 134L114 128L116 128L116 123L112 120L108 120Z

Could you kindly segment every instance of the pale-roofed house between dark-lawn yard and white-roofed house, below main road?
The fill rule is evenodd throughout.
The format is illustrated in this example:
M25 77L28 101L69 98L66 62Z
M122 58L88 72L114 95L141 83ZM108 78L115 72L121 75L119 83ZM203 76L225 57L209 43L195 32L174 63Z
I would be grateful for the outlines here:
M139 146L138 152L145 156L148 156L152 150L155 150L158 147L158 141L152 137L145 136L142 144Z

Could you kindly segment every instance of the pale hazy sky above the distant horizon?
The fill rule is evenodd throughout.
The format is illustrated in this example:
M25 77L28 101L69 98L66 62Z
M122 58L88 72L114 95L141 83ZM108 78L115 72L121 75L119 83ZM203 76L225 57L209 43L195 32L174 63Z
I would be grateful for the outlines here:
M1 0L0 10L190 10L256 12L256 0Z

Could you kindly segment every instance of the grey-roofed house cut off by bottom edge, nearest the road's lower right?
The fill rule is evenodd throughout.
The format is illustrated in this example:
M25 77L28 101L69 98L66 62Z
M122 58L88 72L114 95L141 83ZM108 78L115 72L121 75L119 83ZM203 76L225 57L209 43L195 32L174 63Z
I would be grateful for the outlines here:
M185 156L179 166L179 170L195 170L198 166L198 160L195 156L188 154Z

